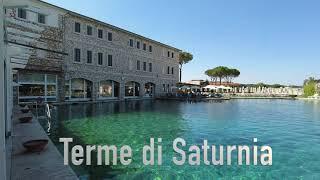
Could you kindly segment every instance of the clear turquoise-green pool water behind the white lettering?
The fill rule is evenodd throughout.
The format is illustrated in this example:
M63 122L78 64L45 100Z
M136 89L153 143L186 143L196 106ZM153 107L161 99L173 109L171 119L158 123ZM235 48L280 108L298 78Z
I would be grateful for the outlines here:
M320 103L316 102L137 101L63 105L52 115L50 136L61 152L59 137L73 137L82 145L130 145L133 150L129 166L72 166L81 179L320 179ZM162 166L142 164L142 147L150 137L162 138ZM203 139L210 145L251 146L256 137L258 145L272 147L273 165L208 166L201 160L200 166L187 162L177 166L172 162L172 141L177 137L185 139L187 147L200 146Z

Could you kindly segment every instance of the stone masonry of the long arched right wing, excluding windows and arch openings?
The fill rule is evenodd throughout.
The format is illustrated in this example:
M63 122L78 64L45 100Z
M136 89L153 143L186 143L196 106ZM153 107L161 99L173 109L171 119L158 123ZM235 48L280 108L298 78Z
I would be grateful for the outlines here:
M80 33L74 31L75 22L81 24ZM93 28L91 36L86 34L87 25ZM103 38L98 38L98 29L103 30ZM113 40L108 41L107 33L112 32ZM156 86L156 95L164 93L162 84L175 86L179 80L178 55L174 48L161 46L158 43L136 37L134 35L113 29L98 21L88 20L84 17L68 15L65 17L65 51L69 56L65 59L65 79L84 78L93 82L93 92L97 92L99 81L113 80L120 83L120 98L124 97L124 84L135 81L143 90L144 84L151 82ZM129 46L129 39L134 40L134 47ZM140 41L140 49L136 48L136 41ZM147 44L147 50L142 49L143 43ZM148 46L152 45L152 52ZM81 62L74 61L74 49L81 49ZM87 50L93 52L93 63L88 64ZM174 52L174 58L168 58L167 51ZM98 52L103 53L103 65L98 65ZM112 67L107 65L107 56L113 56ZM137 60L141 63L141 70L136 70ZM143 71L143 62L147 62L147 71ZM152 72L149 72L148 63L152 63ZM170 74L167 74L167 67ZM171 68L174 73L171 74ZM140 91L142 93L142 91ZM141 94L142 95L142 94ZM97 94L93 93L96 100Z

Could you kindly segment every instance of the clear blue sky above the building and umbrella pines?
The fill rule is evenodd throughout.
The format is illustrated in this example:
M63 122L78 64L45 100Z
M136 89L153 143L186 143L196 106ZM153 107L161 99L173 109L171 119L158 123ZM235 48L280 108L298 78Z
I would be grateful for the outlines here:
M318 0L46 0L189 51L183 80L238 68L240 83L301 85L320 78Z

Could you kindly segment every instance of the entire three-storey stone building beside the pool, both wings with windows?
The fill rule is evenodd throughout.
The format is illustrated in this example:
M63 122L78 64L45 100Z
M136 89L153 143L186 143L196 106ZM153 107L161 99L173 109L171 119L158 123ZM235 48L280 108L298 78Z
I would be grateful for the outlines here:
M178 82L177 48L43 1L8 4L15 103L153 98Z

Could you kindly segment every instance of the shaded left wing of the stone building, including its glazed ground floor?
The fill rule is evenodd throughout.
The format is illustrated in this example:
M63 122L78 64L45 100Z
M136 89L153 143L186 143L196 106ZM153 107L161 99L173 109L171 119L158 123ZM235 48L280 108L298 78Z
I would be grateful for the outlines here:
M63 29L65 11L40 1L6 2L5 30L12 100L58 101L59 81L63 79Z

